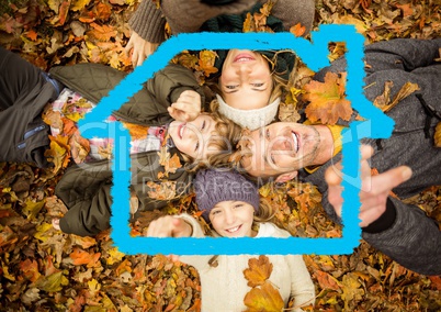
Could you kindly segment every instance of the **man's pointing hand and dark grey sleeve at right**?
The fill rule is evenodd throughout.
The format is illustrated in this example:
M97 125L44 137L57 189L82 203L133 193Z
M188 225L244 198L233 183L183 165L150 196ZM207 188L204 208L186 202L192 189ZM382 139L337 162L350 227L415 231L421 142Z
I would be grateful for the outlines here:
M441 232L434 220L419 208L389 197L389 191L409 179L411 172L402 166L371 177L366 160L371 153L369 148L362 152L360 225L363 238L408 269L441 274ZM328 199L338 215L342 204L340 177L338 168L328 168Z

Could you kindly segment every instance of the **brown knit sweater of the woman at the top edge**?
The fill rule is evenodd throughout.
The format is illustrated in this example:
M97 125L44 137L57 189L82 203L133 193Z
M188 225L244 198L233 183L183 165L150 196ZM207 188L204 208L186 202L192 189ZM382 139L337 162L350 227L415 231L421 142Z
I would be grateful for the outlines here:
M265 0L238 0L227 5L208 5L200 0L162 0L160 9L151 0L144 0L128 21L132 30L150 43L165 41L165 25L169 23L172 34L194 33L202 24L223 14L240 14L256 3ZM283 22L285 30L301 23L306 27L305 35L313 27L315 13L314 0L279 0L272 15ZM241 27L241 25L240 25Z

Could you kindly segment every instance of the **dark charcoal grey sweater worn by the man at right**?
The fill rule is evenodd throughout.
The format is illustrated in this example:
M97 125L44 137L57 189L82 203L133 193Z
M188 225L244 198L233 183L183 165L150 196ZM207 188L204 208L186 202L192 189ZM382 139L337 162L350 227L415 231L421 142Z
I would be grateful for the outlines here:
M430 111L441 112L441 64L436 63L441 38L431 41L394 40L366 46L366 78L364 91L370 101L383 94L386 81L393 81L391 94L395 96L408 81L419 90L403 99L386 114L395 121L392 136L386 140L365 138L361 142L374 148L371 167L384 172L406 165L412 177L393 189L399 199L406 199L430 186L441 185L441 149L433 146L433 133L439 119ZM346 70L344 59L332 63L317 74L323 80L327 71ZM425 108L425 103L427 107ZM375 127L372 121L372 127ZM341 159L338 154L309 175L301 178L316 185L323 193L323 204L328 215L340 222L327 200L326 169ZM362 237L400 265L425 275L441 274L441 232L433 219L416 205L389 198L386 212L373 224L363 229Z

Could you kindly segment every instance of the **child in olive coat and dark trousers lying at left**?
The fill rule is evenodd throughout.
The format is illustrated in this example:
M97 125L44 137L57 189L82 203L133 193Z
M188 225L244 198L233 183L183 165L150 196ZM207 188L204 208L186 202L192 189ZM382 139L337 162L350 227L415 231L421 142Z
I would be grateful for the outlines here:
M59 122L93 107L124 77L124 73L99 64L54 67L49 76L0 47L0 161L47 167L49 135L66 140L71 145L67 149L74 151L80 138L71 138L78 133L70 136ZM135 210L162 208L185 193L192 176L184 168L186 164L195 163L193 169L196 169L228 159L241 130L217 114L200 113L203 102L204 92L192 73L170 65L113 113L113 119L126 124L146 126L132 148L131 202ZM45 121L52 121L50 126L43 121L43 112ZM65 116L54 122L48 118L50 113ZM69 122L75 125L75 118L71 119ZM108 123L110 130L111 124ZM100 147L106 149L101 144L91 140L92 153L84 157L77 155L75 160L81 165L70 166L57 183L55 192L69 211L59 225L58 221L54 225L66 233L94 235L109 229L112 170L108 158L99 159L103 154ZM176 156L176 161L170 165L159 154ZM167 196L155 197L165 186Z

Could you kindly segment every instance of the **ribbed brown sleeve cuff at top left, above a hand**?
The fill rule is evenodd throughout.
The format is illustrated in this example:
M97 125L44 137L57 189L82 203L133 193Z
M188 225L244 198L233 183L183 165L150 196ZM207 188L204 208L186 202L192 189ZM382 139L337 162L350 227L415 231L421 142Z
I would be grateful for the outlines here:
M166 19L162 11L156 8L151 0L140 2L128 25L144 40L150 43L161 43L166 38Z

